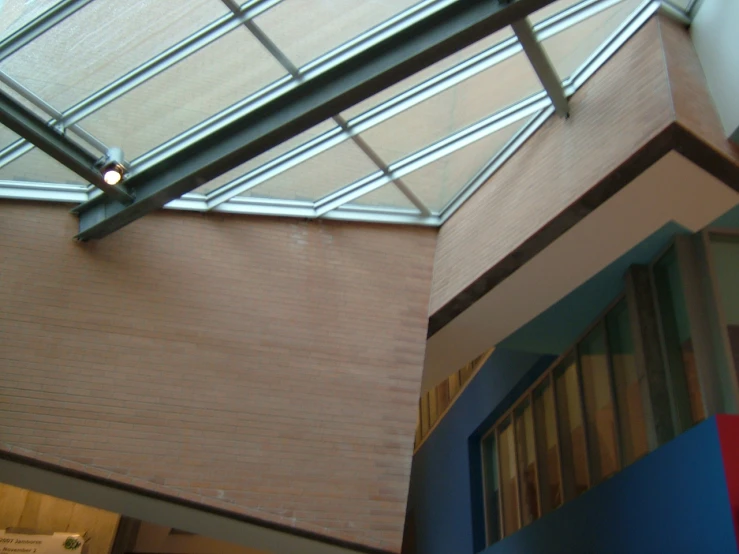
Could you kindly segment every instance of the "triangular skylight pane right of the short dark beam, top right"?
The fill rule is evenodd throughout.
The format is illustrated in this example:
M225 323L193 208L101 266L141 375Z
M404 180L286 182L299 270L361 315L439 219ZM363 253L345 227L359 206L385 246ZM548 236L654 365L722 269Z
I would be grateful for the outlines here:
M560 78L572 75L634 13L642 0L623 0L543 41Z

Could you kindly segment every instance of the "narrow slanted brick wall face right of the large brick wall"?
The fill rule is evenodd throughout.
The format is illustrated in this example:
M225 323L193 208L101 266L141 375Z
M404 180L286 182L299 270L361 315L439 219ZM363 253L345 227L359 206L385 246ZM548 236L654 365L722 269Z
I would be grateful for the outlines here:
M441 228L429 314L464 302L467 287L673 120L653 18L570 100L569 119L547 121Z

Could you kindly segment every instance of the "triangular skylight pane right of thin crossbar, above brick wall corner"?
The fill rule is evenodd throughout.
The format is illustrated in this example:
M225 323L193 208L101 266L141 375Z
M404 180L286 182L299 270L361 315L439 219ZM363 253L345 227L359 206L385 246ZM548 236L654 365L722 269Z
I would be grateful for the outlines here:
M508 125L403 177L403 182L433 212L440 212L482 167L523 127Z

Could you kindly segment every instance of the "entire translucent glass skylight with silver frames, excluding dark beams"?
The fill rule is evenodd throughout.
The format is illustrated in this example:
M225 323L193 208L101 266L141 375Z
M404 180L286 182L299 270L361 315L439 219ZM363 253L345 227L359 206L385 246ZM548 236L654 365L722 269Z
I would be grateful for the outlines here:
M135 174L453 1L4 0L0 89L96 155L122 148ZM60 4L74 9L7 47ZM529 20L571 95L659 6L556 0ZM506 28L167 207L439 225L552 112ZM97 194L0 127L0 198Z

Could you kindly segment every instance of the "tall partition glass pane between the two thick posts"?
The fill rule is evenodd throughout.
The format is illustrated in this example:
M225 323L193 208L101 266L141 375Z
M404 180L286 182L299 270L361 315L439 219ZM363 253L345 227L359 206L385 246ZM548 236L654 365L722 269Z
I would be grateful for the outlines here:
M670 392L680 431L705 419L698 383L688 310L675 249L665 254L654 267L662 333L664 335Z

